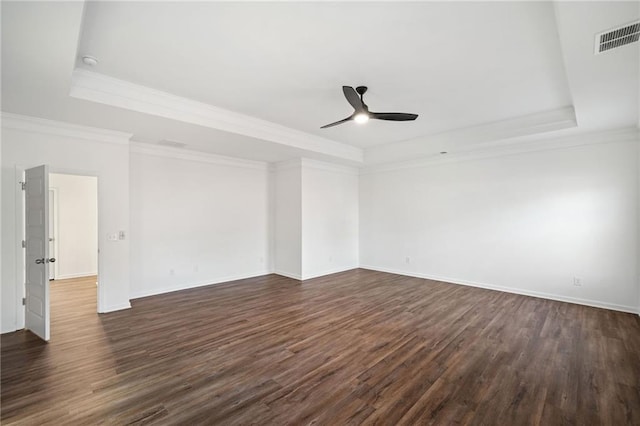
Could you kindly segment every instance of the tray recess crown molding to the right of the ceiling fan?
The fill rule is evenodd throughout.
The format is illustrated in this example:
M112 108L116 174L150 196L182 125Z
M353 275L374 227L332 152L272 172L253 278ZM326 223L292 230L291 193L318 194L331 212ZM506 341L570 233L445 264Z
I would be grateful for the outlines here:
M404 142L378 145L365 151L365 164L404 161L439 154L490 146L499 141L537 137L545 133L575 128L577 120L572 106L529 114L478 126L421 136Z

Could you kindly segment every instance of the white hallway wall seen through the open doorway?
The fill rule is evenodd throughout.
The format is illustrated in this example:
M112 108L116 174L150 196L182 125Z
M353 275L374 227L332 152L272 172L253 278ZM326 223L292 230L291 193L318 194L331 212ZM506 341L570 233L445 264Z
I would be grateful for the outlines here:
M98 273L98 181L94 176L49 174L55 189L56 279ZM52 267L51 265L50 267Z

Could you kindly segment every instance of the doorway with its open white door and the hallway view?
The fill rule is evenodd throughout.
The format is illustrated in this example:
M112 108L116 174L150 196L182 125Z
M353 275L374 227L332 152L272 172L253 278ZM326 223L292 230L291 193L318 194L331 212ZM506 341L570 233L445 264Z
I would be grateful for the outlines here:
M83 312L89 309L93 315L98 312L98 179L49 173L47 165L23 169L22 176L24 204L17 206L24 227L17 229L24 230L23 256L16 261L17 270L24 274L24 280L20 280L24 283L23 324L47 341L52 306L54 314L72 314L75 308ZM73 279L88 284L82 298L65 282ZM56 286L53 301L52 283ZM61 305L60 301L75 304Z

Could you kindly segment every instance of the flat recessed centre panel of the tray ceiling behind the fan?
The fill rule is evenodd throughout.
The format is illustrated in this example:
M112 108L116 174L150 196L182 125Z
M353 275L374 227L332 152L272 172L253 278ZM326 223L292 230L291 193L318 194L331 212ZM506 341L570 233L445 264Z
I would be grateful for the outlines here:
M571 104L552 3L88 3L95 71L359 147ZM508 60L505 60L508 58ZM413 123L320 126L353 109Z

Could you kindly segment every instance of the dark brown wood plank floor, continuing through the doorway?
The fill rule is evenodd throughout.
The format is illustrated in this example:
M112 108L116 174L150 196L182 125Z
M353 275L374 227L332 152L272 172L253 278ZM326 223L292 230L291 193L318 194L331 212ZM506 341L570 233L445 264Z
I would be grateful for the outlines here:
M2 335L3 424L640 424L637 315L367 270L95 291Z

